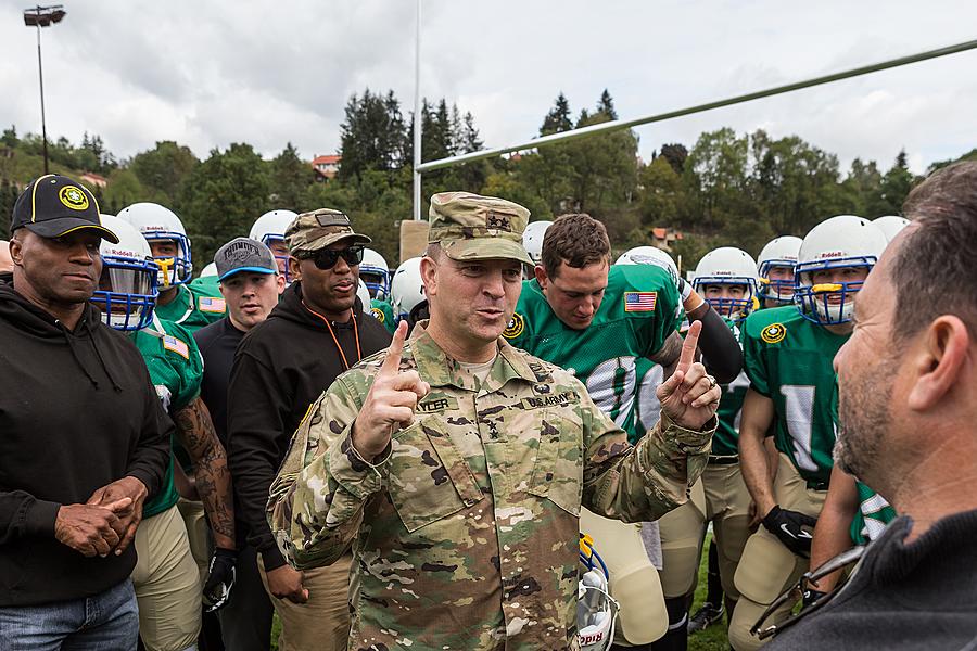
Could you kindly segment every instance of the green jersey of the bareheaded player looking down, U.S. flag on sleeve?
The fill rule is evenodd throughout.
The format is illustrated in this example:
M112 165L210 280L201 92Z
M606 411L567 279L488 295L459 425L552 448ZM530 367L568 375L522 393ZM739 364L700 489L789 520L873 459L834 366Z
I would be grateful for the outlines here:
M650 265L613 266L600 308L585 330L557 318L535 280L522 284L510 344L575 374L594 403L625 432L635 431L637 360L658 353L675 331L678 290Z

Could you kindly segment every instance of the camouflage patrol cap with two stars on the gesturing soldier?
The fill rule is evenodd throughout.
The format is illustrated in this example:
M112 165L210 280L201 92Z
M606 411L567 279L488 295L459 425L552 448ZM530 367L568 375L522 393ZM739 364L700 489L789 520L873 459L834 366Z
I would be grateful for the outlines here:
M517 203L470 192L431 197L428 242L437 242L453 260L508 258L532 266L522 246L529 210Z

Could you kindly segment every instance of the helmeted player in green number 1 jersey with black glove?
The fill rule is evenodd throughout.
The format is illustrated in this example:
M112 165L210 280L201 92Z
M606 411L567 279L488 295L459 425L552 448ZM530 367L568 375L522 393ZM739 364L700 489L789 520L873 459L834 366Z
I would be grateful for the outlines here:
M736 571L740 599L729 626L736 651L762 644L750 628L808 569L811 528L833 464L837 382L832 360L851 334L852 306L885 246L881 231L861 217L841 215L819 224L798 254L796 306L758 311L744 323L750 388L739 456L763 526L750 537ZM779 451L775 473L764 449L771 424ZM789 607L769 623L786 617Z

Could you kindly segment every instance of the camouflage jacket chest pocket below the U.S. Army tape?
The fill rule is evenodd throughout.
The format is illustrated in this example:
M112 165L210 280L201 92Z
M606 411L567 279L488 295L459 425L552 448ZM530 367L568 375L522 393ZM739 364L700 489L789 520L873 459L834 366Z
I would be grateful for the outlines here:
M580 515L583 490L583 421L570 408L547 409L529 492Z

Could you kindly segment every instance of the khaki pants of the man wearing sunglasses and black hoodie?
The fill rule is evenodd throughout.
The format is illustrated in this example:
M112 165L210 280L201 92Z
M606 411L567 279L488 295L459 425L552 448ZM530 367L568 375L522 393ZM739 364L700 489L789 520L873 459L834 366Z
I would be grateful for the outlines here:
M308 601L292 603L268 590L268 576L258 553L258 569L265 591L281 621L279 651L346 651L350 642L350 566L353 554L345 553L325 567L302 571Z

